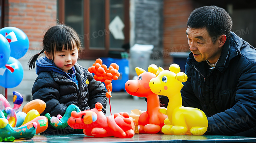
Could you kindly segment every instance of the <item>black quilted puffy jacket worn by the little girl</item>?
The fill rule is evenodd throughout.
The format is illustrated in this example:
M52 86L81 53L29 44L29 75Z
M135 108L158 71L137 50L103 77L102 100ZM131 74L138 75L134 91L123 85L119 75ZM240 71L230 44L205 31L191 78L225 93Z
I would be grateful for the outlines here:
M63 116L70 104L75 104L84 111L95 108L96 102L102 103L102 111L106 114L107 98L104 84L94 80L93 75L78 63L75 64L75 70L78 86L73 80L56 72L43 71L38 74L32 88L32 95L33 99L41 99L46 103L46 109L41 115L50 113L51 116L58 114ZM47 131L49 128L51 128L50 125Z

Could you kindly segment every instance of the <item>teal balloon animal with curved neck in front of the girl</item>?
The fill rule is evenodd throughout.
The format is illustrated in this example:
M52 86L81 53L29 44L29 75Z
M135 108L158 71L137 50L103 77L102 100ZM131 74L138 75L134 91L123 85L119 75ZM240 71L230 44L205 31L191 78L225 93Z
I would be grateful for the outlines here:
M76 111L76 113L81 112L81 110L75 104L71 104L68 106L63 117L61 115L51 117L49 113L45 114L45 116L48 118L49 124L55 129L63 129L68 126L68 119L71 117L72 111Z

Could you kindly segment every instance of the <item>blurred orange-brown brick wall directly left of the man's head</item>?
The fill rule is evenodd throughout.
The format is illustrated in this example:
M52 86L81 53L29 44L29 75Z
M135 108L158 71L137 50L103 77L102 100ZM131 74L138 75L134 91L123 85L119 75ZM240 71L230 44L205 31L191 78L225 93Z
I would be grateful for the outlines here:
M164 0L163 1L163 52L175 54L188 52L186 38L187 18L192 12L192 0ZM173 63L168 54L163 55L165 69Z

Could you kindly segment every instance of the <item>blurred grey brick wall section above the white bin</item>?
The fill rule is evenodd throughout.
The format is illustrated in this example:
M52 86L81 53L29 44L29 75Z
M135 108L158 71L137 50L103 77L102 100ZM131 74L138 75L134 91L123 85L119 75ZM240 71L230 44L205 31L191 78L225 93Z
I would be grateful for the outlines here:
M131 0L134 8L134 44L154 45L162 49L163 0Z

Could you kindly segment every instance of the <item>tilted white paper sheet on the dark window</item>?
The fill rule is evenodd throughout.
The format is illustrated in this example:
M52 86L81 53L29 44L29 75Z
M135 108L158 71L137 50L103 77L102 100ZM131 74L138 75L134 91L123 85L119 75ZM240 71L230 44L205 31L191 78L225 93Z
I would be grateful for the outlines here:
M116 16L109 24L109 30L115 39L124 40L123 28L124 24L119 16Z

